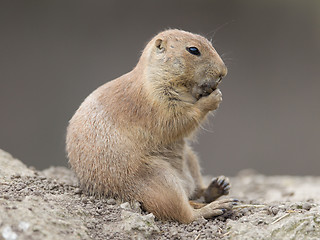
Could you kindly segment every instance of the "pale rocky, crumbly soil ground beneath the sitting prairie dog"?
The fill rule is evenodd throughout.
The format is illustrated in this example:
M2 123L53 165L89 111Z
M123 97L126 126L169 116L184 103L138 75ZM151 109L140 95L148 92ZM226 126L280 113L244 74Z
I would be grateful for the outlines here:
M0 150L0 240L320 239L320 177L245 170L231 184L232 212L161 222L138 203L86 195L67 168L37 171Z

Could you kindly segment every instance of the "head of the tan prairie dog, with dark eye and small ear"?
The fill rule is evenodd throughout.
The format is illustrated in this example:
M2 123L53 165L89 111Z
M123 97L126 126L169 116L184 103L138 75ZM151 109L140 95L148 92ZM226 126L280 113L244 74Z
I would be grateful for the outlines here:
M195 102L214 91L227 68L206 38L181 30L156 35L142 59L148 81L155 90L186 102Z

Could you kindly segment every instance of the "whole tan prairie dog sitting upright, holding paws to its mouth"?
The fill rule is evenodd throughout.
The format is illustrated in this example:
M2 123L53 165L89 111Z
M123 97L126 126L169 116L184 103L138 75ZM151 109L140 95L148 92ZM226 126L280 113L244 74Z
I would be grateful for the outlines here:
M204 37L156 35L129 73L92 92L67 129L69 163L90 193L136 200L162 220L189 223L223 214L227 178L202 182L188 141L210 111L227 68ZM190 200L204 196L206 204Z

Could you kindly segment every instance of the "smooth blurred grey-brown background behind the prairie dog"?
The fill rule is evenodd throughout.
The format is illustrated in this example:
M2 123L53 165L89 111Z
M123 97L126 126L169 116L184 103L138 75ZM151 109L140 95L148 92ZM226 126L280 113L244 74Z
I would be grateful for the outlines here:
M212 38L229 73L194 148L204 173L319 175L320 1L0 2L0 148L67 166L68 120L158 32Z

